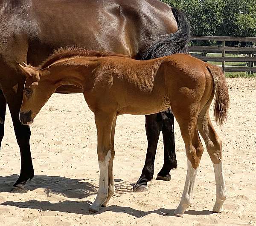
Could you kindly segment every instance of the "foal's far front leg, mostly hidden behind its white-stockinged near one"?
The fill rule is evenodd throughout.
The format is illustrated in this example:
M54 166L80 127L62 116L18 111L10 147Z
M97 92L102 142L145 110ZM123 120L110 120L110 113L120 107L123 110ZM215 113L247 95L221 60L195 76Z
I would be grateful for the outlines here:
M115 139L115 130L116 130L116 118L113 120L112 130L111 130L111 140L110 140L110 152L111 158L108 164L108 198L102 204L103 206L108 206L108 201L112 197L115 192L115 184L114 184L114 173L113 173L113 160L115 156L115 149L114 149L114 139Z

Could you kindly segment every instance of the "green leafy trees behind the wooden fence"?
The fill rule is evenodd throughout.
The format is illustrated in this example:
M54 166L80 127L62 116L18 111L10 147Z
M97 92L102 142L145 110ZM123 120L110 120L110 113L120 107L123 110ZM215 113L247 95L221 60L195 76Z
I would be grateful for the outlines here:
M255 0L162 0L182 10L192 35L256 37Z

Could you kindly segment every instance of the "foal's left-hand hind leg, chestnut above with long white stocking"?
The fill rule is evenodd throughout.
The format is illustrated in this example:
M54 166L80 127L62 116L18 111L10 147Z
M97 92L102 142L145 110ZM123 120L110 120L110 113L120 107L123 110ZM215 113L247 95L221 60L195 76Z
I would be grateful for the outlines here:
M180 126L180 132L185 143L187 156L185 186L180 199L180 204L173 214L178 217L183 217L183 213L191 205L195 178L204 151L197 129L197 112L199 107L192 105L192 109L189 106L190 105L176 105L175 109L172 108L175 118Z

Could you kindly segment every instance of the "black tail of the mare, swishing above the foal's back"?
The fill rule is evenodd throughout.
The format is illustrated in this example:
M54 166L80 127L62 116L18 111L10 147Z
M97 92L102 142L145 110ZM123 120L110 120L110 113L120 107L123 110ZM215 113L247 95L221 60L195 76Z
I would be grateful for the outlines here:
M148 37L143 40L138 59L153 59L172 54L188 54L188 42L190 40L190 26L185 15L179 9L172 8L172 13L177 21L178 29L172 34L161 34Z

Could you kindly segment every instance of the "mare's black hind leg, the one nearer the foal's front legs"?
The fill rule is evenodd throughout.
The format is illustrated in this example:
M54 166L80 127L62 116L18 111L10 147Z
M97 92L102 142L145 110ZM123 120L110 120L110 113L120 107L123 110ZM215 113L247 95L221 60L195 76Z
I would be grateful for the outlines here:
M163 127L163 119L161 113L147 115L145 127L148 139L148 149L141 176L136 184L134 184L134 192L141 192L148 189L147 183L151 181L154 175L154 159L157 150L157 142L161 129Z

